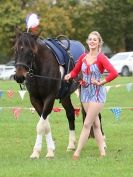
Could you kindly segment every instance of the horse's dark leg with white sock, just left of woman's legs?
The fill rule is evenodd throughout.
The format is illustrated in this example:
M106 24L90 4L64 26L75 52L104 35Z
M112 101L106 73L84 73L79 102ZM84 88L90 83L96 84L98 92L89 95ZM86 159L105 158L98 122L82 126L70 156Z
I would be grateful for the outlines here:
M75 149L75 110L72 105L70 96L66 97L65 99L61 100L61 103L66 111L66 116L69 123L69 143L67 146L67 150L74 150Z

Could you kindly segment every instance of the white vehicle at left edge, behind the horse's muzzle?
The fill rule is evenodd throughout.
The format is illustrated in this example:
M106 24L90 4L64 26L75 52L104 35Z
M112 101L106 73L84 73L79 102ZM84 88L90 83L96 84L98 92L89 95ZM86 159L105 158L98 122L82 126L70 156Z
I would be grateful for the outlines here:
M15 71L15 66L0 65L0 80L13 80Z

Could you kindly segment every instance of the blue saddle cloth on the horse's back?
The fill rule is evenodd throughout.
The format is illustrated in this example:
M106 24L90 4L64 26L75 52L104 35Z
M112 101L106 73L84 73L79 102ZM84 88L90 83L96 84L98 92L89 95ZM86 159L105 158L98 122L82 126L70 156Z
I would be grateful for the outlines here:
M44 40L44 43L51 48L52 52L56 56L56 59L60 65L65 65L67 68L69 62L69 55L65 48L68 47L67 40L56 40L56 39L47 39ZM63 47L63 46L64 47ZM79 56L85 52L85 47L79 41L70 40L70 55L72 56L74 64L77 62Z

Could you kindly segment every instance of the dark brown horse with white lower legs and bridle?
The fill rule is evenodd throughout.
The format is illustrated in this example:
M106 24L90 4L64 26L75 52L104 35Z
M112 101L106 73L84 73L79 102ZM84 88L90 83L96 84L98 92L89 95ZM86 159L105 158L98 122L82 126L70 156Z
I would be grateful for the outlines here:
M72 105L71 94L79 87L79 82L75 80L67 82L63 79L63 76L74 67L72 55L70 55L73 45L67 39L55 41L66 52L65 55L69 58L67 64L58 61L56 51L52 48L55 44L50 40L42 39L39 35L31 32L16 32L14 45L16 73L14 79L19 84L25 83L30 102L40 117L36 126L37 135L31 159L39 158L43 135L45 135L47 144L46 158L53 158L55 155L55 143L48 118L56 99L60 100L69 123L67 150L75 149L75 109ZM85 52L82 43L74 42L78 42L79 45L77 50L80 54L78 55ZM83 115L85 118L85 114Z

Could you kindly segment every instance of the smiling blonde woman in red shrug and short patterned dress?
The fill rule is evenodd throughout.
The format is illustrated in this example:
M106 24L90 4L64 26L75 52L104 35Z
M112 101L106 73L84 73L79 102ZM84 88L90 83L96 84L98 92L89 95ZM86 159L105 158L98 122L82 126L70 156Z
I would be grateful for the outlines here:
M103 40L97 31L89 34L87 39L89 52L79 57L74 69L65 76L65 80L75 78L81 71L83 79L81 82L81 102L86 112L86 118L78 141L78 146L73 155L73 160L77 160L84 147L91 126L93 126L96 142L99 147L100 156L105 156L104 138L101 133L98 114L102 111L106 101L106 90L104 84L112 81L118 76L108 58L101 51ZM101 74L104 70L108 75L102 80Z

